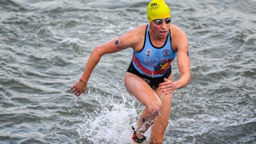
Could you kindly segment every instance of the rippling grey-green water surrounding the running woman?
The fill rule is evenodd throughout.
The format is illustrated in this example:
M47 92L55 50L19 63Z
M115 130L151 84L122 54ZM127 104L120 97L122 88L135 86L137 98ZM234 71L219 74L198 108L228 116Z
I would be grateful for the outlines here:
M131 49L105 55L81 97L69 89L95 45L147 23L148 2L1 0L0 143L131 143L143 109L123 85ZM256 143L255 0L166 2L189 38L191 84L164 143Z

